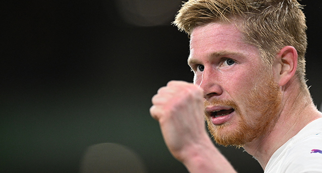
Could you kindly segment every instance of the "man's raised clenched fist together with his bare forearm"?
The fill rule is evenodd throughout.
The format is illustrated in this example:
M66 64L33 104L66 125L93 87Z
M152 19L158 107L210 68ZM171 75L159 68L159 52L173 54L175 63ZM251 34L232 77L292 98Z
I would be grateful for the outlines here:
M197 86L171 81L152 98L150 113L171 154L190 173L236 173L205 130L203 100Z

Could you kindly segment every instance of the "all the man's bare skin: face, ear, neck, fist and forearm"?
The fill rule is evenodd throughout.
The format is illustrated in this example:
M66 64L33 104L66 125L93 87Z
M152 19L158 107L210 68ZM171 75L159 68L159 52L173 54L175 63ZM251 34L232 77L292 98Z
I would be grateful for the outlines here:
M281 145L322 117L295 76L295 48L280 49L268 67L234 23L194 28L188 64L194 84L170 81L152 98L150 113L190 173L235 173L209 138L204 114L217 143L242 146L264 170Z

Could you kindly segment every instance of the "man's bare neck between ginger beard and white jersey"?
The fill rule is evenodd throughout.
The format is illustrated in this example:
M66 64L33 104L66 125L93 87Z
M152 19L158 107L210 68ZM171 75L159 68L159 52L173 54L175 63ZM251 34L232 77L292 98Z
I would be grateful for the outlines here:
M272 130L244 145L244 149L258 160L264 170L269 158L280 146L306 125L322 117L308 90L303 92L298 86L289 87L282 91L281 111Z

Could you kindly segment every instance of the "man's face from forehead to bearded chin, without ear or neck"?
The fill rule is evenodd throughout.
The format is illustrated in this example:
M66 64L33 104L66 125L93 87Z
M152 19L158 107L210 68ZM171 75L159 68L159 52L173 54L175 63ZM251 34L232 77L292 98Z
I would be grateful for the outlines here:
M215 141L241 146L274 126L281 94L258 49L234 23L196 27L190 40L194 83L204 90L205 118Z

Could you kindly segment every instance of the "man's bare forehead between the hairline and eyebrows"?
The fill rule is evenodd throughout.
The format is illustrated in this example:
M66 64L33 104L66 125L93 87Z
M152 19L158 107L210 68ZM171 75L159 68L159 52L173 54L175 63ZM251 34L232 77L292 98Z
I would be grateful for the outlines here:
M235 23L215 22L194 28L190 39L190 57L202 57L216 52L259 55L255 46L244 42Z

